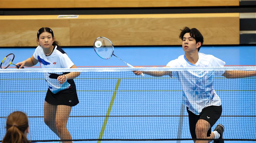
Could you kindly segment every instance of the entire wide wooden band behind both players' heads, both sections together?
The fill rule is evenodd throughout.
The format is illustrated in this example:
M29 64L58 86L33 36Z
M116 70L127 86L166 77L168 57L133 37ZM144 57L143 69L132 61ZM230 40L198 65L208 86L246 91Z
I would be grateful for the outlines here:
M6 18L3 18L6 17ZM8 23L8 24L6 24ZM41 27L54 30L62 46L92 46L99 36L114 46L181 45L179 29L197 28L205 45L239 44L239 13L0 16L0 46L35 46ZM25 37L25 41L22 37Z

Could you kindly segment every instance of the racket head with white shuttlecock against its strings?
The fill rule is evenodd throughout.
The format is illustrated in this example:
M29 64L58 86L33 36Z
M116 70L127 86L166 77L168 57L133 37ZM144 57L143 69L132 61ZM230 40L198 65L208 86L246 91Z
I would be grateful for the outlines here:
M105 37L98 37L93 44L94 51L102 59L109 59L114 54L112 42Z

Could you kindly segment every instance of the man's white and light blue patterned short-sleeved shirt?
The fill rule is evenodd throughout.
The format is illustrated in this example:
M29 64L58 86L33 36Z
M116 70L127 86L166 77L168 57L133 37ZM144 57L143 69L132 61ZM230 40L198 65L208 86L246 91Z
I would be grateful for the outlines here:
M185 55L170 61L169 67L224 67L224 61L213 55L198 53L198 61L191 64ZM172 75L177 76L183 88L183 104L191 112L199 115L205 107L220 106L221 100L216 94L213 86L214 75L222 75L225 71L173 71Z

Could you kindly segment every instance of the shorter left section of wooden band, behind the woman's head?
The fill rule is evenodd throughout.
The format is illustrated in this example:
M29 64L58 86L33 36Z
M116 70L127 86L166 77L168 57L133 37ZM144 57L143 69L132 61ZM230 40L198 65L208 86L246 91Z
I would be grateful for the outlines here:
M37 31L41 27L54 29L56 40L69 46L70 21L56 18L56 15L0 16L0 47L37 46Z

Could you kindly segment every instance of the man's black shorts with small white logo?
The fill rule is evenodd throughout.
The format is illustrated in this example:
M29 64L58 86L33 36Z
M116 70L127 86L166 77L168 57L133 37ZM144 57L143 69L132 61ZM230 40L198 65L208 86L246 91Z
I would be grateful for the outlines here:
M196 139L195 126L198 120L203 119L210 123L211 128L217 122L222 113L222 106L208 106L205 107L199 115L194 114L188 110L189 129L192 139ZM211 128L207 132L207 137L211 135Z

